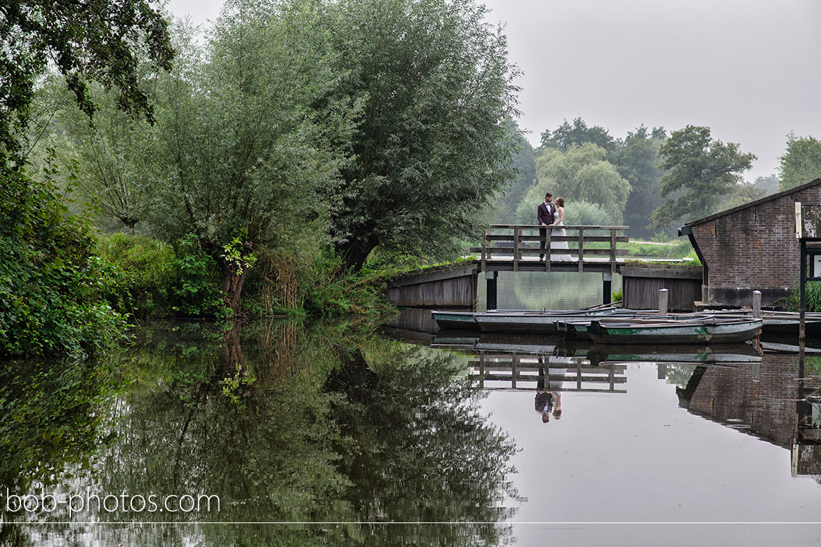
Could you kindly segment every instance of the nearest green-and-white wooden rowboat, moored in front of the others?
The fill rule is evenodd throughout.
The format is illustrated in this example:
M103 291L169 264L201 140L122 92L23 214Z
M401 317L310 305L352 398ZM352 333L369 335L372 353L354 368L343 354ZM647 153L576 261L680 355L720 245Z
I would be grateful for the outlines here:
M592 320L586 325L590 339L602 344L730 344L752 340L761 331L761 319L702 317L675 320Z

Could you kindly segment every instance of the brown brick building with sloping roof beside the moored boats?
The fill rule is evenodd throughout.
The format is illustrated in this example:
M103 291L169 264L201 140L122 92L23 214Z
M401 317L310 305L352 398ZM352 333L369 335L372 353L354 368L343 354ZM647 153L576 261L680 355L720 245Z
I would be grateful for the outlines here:
M752 291L760 290L762 305L772 307L798 286L796 202L821 205L821 179L687 222L679 230L699 255L710 304L749 306Z

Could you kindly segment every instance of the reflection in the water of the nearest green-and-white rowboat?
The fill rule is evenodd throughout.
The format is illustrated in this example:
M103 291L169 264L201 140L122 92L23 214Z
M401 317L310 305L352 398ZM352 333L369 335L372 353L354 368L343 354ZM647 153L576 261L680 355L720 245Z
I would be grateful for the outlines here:
M761 362L761 353L750 344L594 344L590 362L660 362L692 365L731 365Z

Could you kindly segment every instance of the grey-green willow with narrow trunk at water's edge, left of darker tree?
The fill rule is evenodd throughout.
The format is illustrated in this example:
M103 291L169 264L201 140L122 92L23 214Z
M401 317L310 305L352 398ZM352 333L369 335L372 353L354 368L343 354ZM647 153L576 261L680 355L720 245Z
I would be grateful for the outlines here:
M235 311L255 247L327 209L342 162L351 106L331 93L323 17L315 2L228 2L204 51L181 43L157 84L147 220L168 239L199 236Z

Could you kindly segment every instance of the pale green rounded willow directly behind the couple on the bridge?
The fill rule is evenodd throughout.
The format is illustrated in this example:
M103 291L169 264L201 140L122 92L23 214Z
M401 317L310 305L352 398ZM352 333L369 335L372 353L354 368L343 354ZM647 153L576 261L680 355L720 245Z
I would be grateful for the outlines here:
M568 209L574 202L594 203L602 208L610 222L621 224L630 183L621 178L616 168L605 159L606 155L604 148L592 143L574 144L566 153L546 149L536 159L539 182L528 191L520 209L532 204L534 215L535 206L541 203L546 192L550 192L555 197L565 198ZM525 202L528 205L525 206Z

